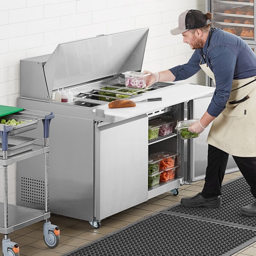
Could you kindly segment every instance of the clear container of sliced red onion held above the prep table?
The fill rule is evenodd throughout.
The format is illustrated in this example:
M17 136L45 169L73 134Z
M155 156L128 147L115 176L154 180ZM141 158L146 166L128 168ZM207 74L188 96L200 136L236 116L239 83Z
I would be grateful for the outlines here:
M122 73L125 75L125 86L132 88L144 88L146 86L146 80L150 74L143 74L141 72L127 71Z

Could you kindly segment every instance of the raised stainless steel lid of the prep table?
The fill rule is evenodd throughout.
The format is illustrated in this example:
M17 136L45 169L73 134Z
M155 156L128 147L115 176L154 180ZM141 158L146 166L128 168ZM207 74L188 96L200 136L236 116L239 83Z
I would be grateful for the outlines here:
M44 64L49 93L62 87L140 71L148 28L59 44Z

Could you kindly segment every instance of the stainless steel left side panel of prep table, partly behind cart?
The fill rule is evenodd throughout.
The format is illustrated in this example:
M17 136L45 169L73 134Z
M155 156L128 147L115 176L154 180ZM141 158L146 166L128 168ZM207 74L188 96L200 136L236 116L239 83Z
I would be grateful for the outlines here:
M34 103L36 109L38 102ZM30 105L32 108L32 102ZM55 118L49 138L49 209L52 213L93 221L93 120L65 116L69 108L62 108L59 114L54 106L51 105ZM38 126L29 134L38 137L42 132L43 126ZM17 163L18 205L44 209L44 204L22 192L24 179L44 182L44 161L44 155L40 155ZM34 191L32 185L28 189L33 198L41 196L41 190Z

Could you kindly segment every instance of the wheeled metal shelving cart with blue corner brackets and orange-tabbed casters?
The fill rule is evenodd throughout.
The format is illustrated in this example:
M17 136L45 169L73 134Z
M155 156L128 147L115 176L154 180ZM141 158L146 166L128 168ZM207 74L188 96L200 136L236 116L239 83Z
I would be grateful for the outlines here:
M3 215L0 215L0 233L4 234L2 241L3 256L20 255L19 246L9 239L9 233L41 220L45 220L44 242L50 248L54 248L59 244L60 230L49 221L49 125L52 118L54 118L53 113L31 110L0 117L1 120L15 119L25 122L17 126L0 124L0 165L3 166L3 203L0 203L0 211L3 212ZM39 120L42 120L44 126L44 145L35 145L34 142L37 139L17 136L17 134L37 128ZM12 163L17 163L39 154L45 155L45 210L8 204L7 167Z

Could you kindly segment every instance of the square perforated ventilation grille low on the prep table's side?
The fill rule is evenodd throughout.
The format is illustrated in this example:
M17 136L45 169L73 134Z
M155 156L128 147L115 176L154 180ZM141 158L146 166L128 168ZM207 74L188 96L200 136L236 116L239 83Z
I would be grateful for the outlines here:
M21 177L21 201L44 206L44 181Z

